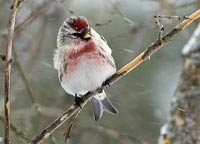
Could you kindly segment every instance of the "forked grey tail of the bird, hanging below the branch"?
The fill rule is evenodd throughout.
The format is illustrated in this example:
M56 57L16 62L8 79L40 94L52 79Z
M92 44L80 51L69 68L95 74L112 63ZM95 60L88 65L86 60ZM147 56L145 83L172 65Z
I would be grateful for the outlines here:
M93 106L93 112L94 112L94 119L96 121L98 121L102 117L104 110L112 114L118 113L117 109L106 97L106 94L104 91L94 96L94 98L92 98L92 106Z

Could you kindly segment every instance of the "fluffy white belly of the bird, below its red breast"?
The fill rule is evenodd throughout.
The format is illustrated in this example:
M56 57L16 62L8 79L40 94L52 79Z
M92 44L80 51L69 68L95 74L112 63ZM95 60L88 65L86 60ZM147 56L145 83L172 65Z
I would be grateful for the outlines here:
M109 63L84 59L79 62L73 72L63 74L61 85L71 95L83 95L101 86L115 72L116 68Z

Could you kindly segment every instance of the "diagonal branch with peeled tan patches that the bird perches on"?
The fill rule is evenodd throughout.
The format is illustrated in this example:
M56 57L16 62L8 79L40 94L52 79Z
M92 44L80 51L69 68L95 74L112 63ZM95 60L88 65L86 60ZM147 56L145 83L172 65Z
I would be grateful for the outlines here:
M169 43L178 32L180 32L182 29L184 29L186 26L188 26L190 23L192 23L194 20L198 19L199 17L200 17L200 9L194 12L192 15L190 15L189 19L185 19L179 25L177 25L171 32L165 35L162 38L162 43L160 43L160 40L155 41L144 52L142 52L139 56L137 56L134 60L132 60L130 63L122 67L120 70L118 70L113 76L109 78L108 80L109 85L114 84L119 79L121 79L124 75L129 73L135 67L137 67L139 64L149 59L149 57L153 55L156 51L158 51L161 47ZM84 105L86 105L87 102L90 101L90 99L94 95L98 94L100 90L104 90L106 88L107 88L107 85L102 85L97 90L93 92L88 92L87 94L85 94L82 97L84 101L84 103L82 104L82 107L84 107ZM75 104L72 105L60 117L58 117L54 122L52 122L49 126L47 126L39 135L33 138L28 144L38 144L42 142L44 139L48 138L50 134L52 134L66 120L71 118L79 109L80 109L79 106Z

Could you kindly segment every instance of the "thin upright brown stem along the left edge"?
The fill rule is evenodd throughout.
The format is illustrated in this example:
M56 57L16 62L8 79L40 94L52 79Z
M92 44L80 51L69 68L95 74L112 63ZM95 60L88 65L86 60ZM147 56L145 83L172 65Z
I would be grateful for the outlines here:
M5 66L5 137L4 144L10 143L10 73L12 61L12 45L14 37L15 19L19 6L23 3L22 0L14 0L10 9L8 44L6 48L6 66Z

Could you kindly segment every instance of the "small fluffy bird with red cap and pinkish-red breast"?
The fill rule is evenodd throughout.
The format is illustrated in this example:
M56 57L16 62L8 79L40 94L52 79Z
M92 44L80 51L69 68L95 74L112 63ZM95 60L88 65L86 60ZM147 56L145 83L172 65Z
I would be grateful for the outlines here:
M54 68L63 89L75 102L88 91L96 90L116 72L111 49L84 17L71 16L59 28ZM116 114L117 109L104 91L92 100L94 119L98 121L103 111Z

